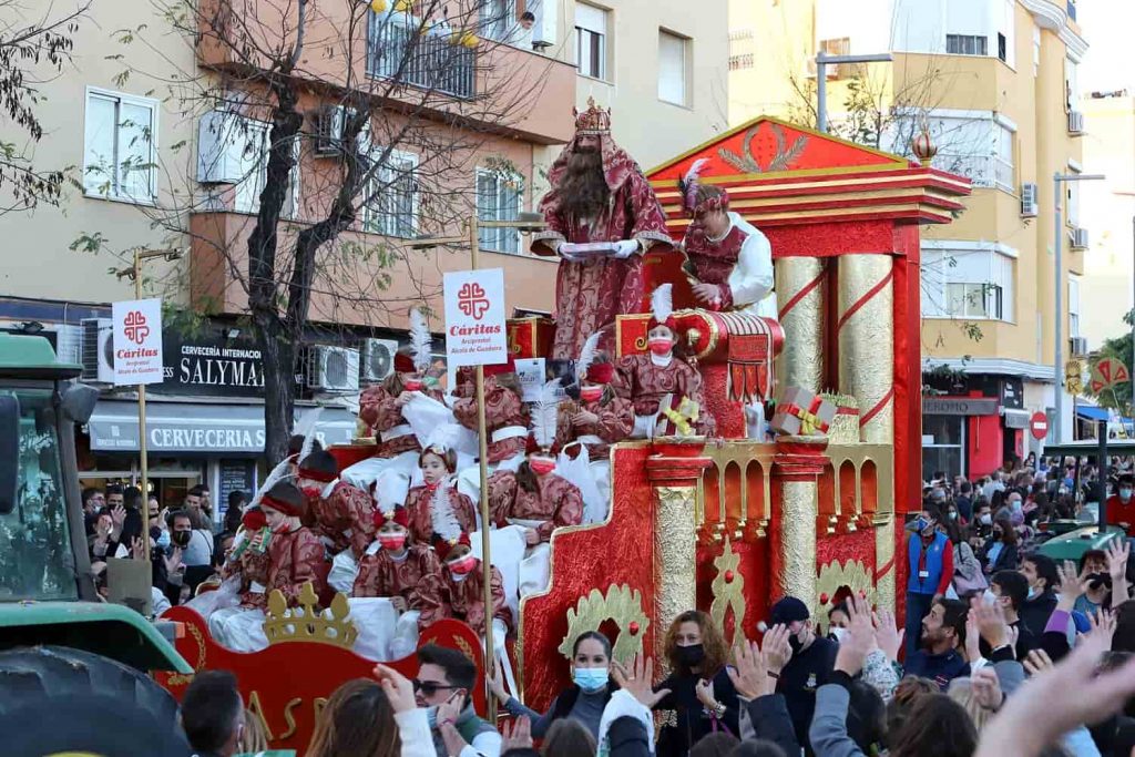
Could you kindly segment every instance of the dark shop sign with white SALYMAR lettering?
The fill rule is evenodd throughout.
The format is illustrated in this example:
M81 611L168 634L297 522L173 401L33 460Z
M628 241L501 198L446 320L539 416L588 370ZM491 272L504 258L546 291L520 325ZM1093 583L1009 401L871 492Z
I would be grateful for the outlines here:
M255 340L227 339L216 331L183 334L176 329L167 329L162 338L162 382L151 390L178 395L263 396L263 354Z

